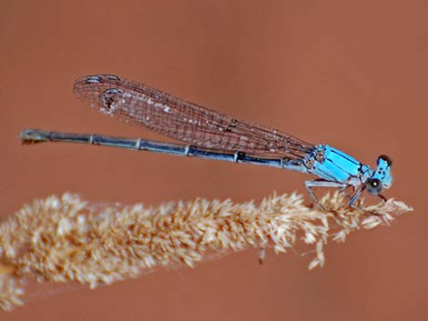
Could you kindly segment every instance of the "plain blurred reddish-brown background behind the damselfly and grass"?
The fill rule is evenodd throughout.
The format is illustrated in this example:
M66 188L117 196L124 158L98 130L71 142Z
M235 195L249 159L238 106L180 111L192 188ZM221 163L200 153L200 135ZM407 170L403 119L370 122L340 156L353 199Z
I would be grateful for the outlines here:
M160 137L76 100L109 73L230 115L394 160L385 195L415 211L309 257L249 250L95 291L36 296L1 320L426 320L428 5L424 1L2 1L1 215L72 191L147 205L304 192L308 176L83 145L21 146L25 127Z

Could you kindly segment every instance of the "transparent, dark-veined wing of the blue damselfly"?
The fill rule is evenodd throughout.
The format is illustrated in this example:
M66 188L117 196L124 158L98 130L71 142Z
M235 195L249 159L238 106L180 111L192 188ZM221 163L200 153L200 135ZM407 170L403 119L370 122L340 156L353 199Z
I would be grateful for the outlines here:
M116 75L79 78L74 91L82 101L104 114L117 115L127 123L144 125L202 148L301 159L314 146Z

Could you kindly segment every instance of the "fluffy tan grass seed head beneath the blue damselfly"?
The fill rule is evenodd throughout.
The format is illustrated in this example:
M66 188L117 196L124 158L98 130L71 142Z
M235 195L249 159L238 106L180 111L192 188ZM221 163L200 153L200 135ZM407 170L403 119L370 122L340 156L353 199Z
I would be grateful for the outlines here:
M273 194L260 204L197 198L156 207L97 206L72 194L49 196L0 224L0 307L23 305L29 280L94 288L250 247L285 253L299 244L311 246L309 268L321 267L329 242L390 225L408 211L412 207L392 199L351 208L341 193L311 207L297 194Z

